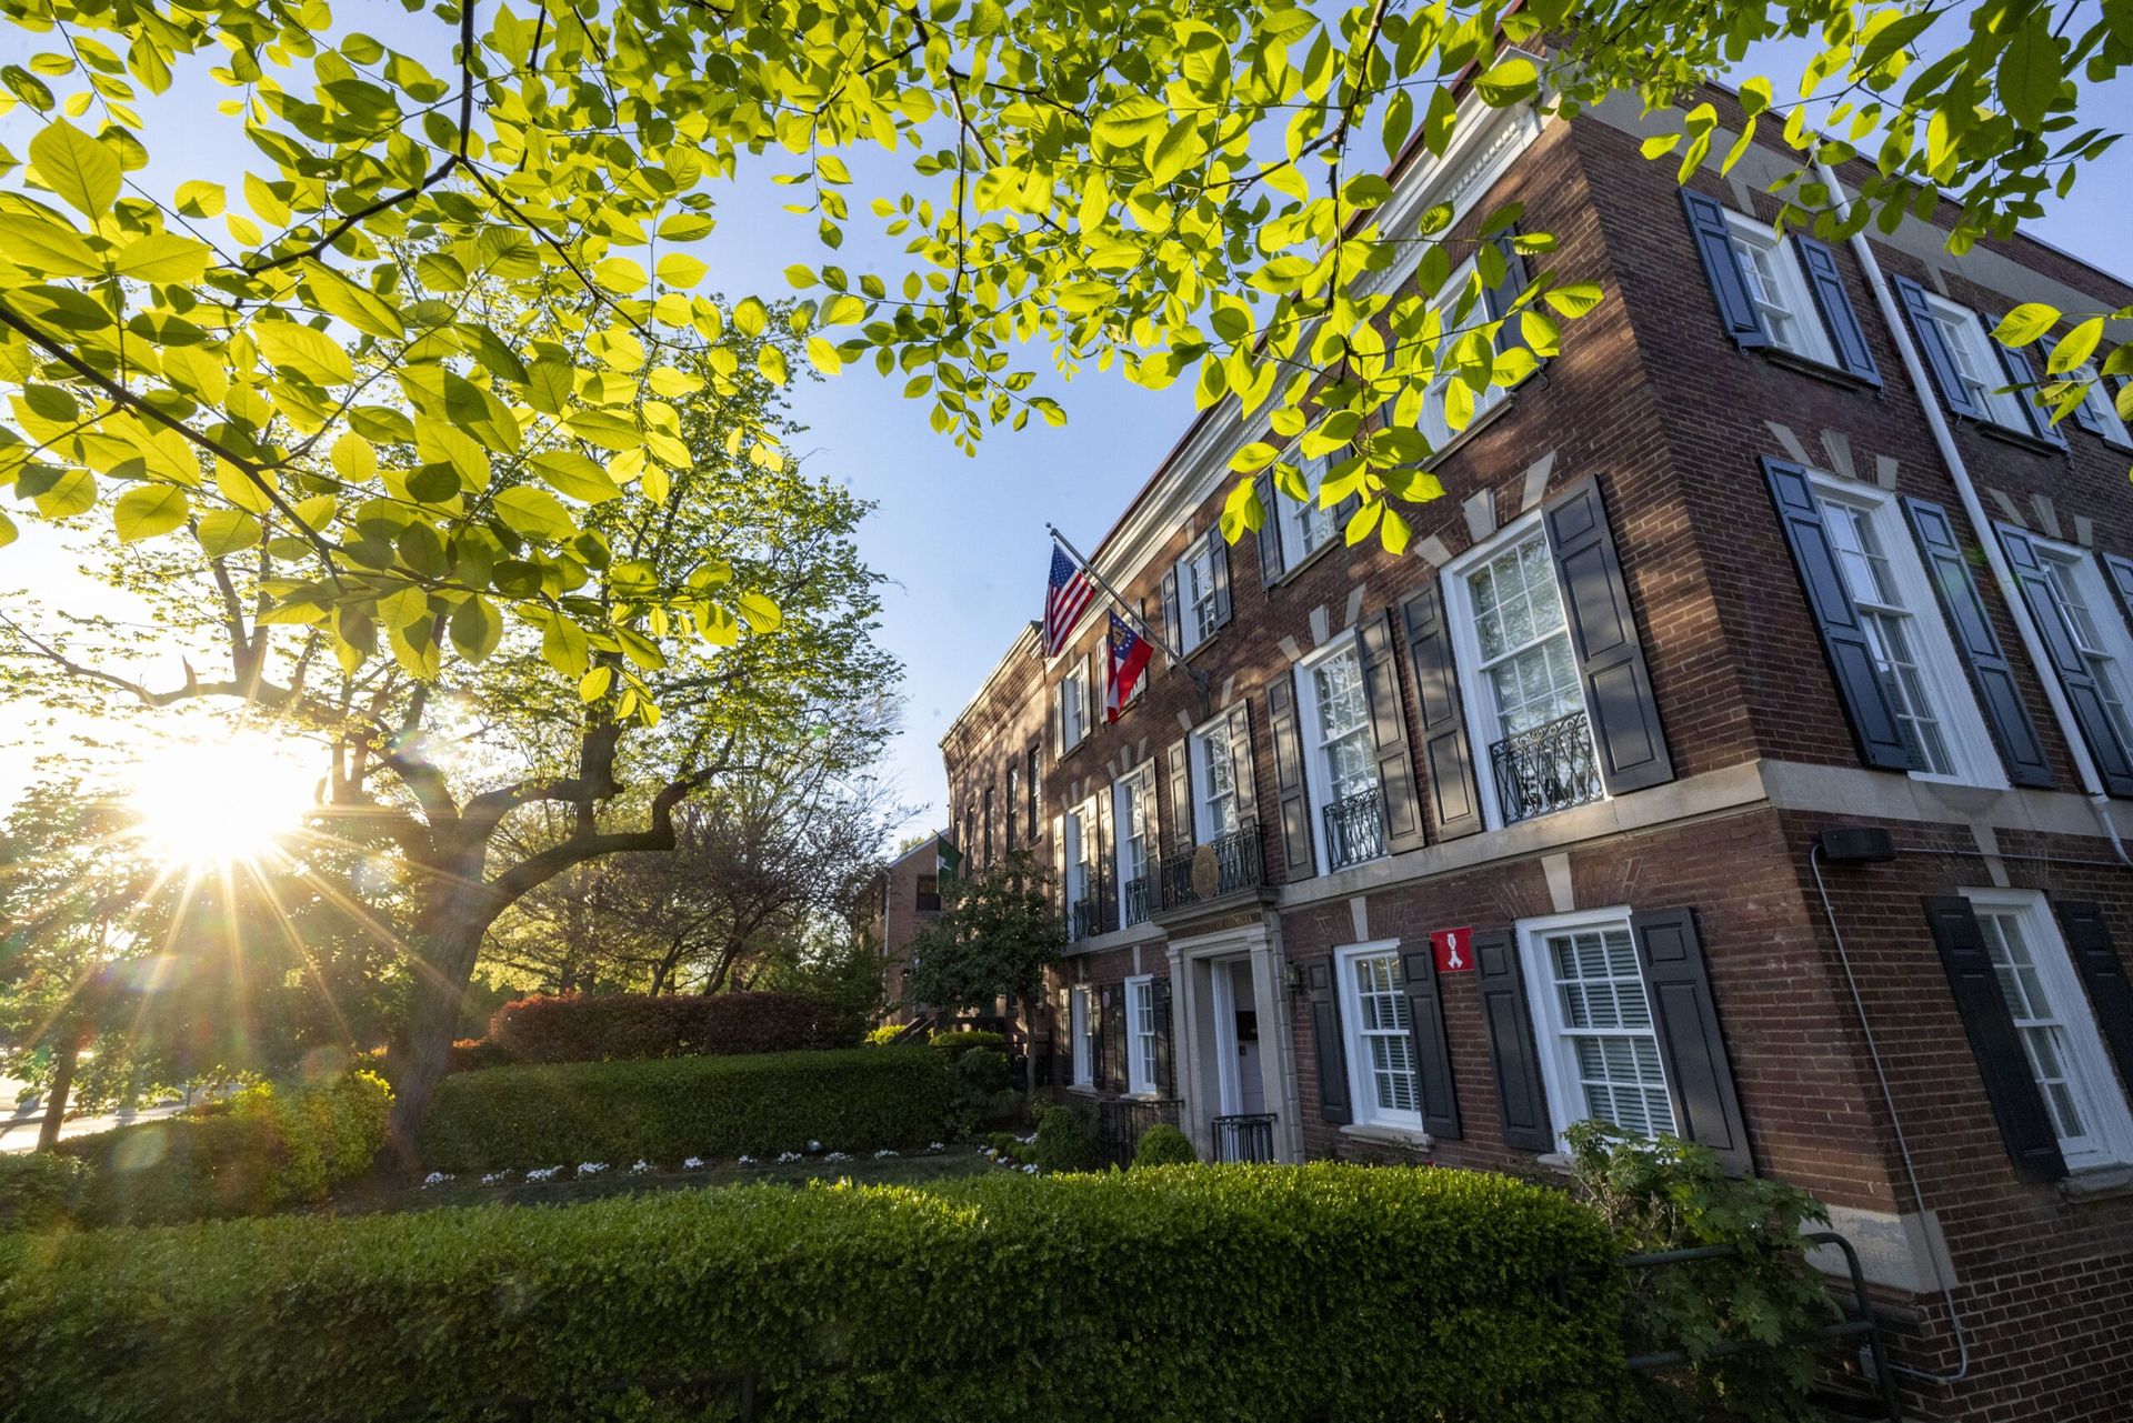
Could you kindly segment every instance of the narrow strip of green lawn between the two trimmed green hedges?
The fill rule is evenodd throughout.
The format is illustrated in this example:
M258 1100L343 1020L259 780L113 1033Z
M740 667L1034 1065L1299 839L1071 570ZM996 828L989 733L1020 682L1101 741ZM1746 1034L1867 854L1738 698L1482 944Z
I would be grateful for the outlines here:
M776 1165L742 1167L732 1161L706 1165L697 1171L659 1167L653 1171L629 1171L627 1163L610 1165L597 1176L578 1176L576 1163L563 1167L555 1180L529 1182L523 1171L508 1180L484 1186L480 1176L459 1176L435 1186L378 1186L358 1182L335 1193L333 1201L320 1208L324 1214L354 1216L378 1210L431 1210L437 1205L576 1205L578 1201L599 1201L610 1195L640 1195L646 1190L702 1190L708 1186L800 1186L804 1182L834 1182L849 1178L862 1186L928 1186L958 1176L998 1171L977 1154L975 1148L953 1146L939 1154L911 1156L857 1156L853 1161L823 1161L808 1156Z

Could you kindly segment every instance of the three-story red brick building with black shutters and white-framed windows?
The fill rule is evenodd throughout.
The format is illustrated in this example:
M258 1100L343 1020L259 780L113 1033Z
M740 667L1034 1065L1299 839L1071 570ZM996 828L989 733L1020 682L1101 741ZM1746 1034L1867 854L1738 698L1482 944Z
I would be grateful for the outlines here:
M1907 220L1883 301L1766 226L1792 154L1677 192L1647 132L1468 100L1410 154L1386 226L1521 201L1602 305L1459 437L1431 395L1408 557L1286 499L1226 546L1269 435L1201 416L1092 553L1186 666L1105 725L1105 604L1052 663L1017 638L943 740L951 824L1064 883L1062 1077L1203 1154L1672 1131L1830 1205L1913 1417L2133 1417L2133 442L1996 395L1986 335L2133 290Z

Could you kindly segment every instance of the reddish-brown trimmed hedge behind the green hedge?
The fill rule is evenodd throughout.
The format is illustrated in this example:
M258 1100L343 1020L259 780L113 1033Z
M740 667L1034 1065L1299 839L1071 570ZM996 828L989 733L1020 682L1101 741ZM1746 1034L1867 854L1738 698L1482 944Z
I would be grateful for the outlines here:
M488 1020L514 1062L619 1062L851 1048L836 1009L804 994L561 994L518 998Z

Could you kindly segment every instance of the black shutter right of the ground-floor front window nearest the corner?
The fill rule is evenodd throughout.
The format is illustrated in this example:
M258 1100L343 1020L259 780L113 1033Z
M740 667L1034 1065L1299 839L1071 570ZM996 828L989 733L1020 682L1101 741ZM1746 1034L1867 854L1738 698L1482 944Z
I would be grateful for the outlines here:
M1741 1094L1726 1062L1711 973L1689 909L1630 915L1636 962L1651 994L1651 1022L1666 1056L1666 1090L1674 1099L1674 1135L1709 1146L1719 1165L1747 1176L1755 1169L1741 1120Z

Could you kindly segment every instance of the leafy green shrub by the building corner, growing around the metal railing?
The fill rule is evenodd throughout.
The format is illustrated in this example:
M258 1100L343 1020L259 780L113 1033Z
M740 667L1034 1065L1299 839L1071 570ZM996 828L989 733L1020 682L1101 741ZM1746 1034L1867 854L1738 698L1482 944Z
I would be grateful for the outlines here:
M1713 1359L1730 1340L1783 1344L1837 1318L1800 1231L1828 1212L1798 1186L1732 1178L1709 1148L1677 1137L1617 1135L1600 1122L1570 1129L1576 1193L1615 1229L1625 1254L1736 1246L1738 1257L1634 1272L1627 1284L1632 1353L1687 1348L1689 1365L1640 1376L1653 1419L1819 1419L1809 1402L1819 1359L1809 1348Z

